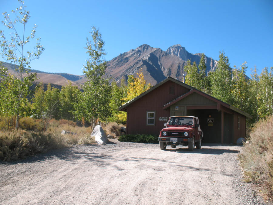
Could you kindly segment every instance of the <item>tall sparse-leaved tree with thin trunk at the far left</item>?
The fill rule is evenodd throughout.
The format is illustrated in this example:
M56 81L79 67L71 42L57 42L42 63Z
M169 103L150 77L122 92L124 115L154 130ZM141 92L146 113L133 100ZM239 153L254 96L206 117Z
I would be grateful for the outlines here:
M1 37L1 55L6 61L13 63L15 70L19 76L19 80L13 77L13 88L7 90L7 92L12 92L10 96L14 96L14 101L10 101L10 107L14 107L16 119L16 129L18 128L19 116L23 115L25 112L25 106L29 95L29 87L32 82L36 79L36 73L29 73L30 62L34 59L38 59L45 49L40 44L40 38L36 39L36 45L33 51L26 51L25 46L30 42L31 39L35 38L36 25L31 29L29 35L26 32L26 24L30 18L29 11L25 10L25 5L22 0L19 0L20 7L12 13L15 15L15 19L10 19L10 15L4 12L4 19L2 24L10 30L9 37L6 37L3 30L0 30ZM22 27L17 27L21 25ZM2 70L5 72L5 70ZM7 80L5 83L4 81ZM4 84L8 84L11 78L7 77L3 81ZM13 104L12 104L13 103Z

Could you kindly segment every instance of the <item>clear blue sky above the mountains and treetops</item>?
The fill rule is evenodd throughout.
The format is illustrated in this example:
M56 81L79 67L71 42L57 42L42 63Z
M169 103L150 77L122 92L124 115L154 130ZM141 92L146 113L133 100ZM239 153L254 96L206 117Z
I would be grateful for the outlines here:
M19 7L17 0L0 1L1 13ZM214 60L224 50L231 67L247 61L249 77L254 66L259 73L273 66L272 0L25 0L25 5L29 29L38 25L36 37L45 46L40 59L31 62L36 70L82 75L91 26L102 34L106 60L142 44L162 50L180 44ZM3 25L0 29L6 31Z

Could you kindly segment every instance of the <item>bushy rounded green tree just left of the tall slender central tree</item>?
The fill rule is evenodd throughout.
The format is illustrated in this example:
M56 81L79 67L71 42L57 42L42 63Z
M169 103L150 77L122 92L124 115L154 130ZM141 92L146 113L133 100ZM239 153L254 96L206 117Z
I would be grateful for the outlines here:
M62 87L60 91L60 117L67 120L75 120L73 112L75 111L74 104L79 102L81 91L77 86L72 86L71 81Z

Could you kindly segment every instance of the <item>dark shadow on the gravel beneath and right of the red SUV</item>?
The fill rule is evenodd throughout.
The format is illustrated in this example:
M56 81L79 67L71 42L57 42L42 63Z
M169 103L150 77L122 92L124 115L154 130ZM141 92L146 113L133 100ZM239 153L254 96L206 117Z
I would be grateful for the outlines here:
M223 153L239 153L239 150L231 149L211 149L211 148L201 148L194 149L194 151L189 151L187 148L177 148L177 149L166 149L169 152L179 152L179 153L189 153L189 154L208 154L208 155L221 155Z

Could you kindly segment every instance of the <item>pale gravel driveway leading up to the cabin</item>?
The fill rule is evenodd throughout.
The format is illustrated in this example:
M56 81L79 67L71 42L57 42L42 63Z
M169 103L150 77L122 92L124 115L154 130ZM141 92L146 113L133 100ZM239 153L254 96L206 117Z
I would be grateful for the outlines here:
M0 163L0 204L263 204L241 182L240 150L112 140L52 151Z

